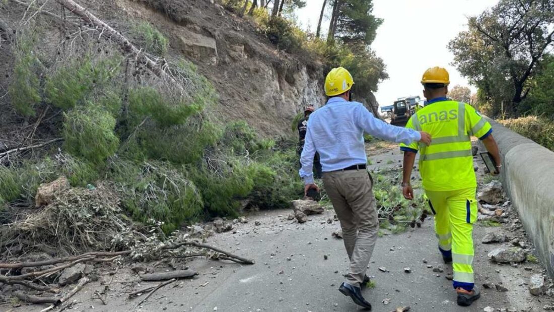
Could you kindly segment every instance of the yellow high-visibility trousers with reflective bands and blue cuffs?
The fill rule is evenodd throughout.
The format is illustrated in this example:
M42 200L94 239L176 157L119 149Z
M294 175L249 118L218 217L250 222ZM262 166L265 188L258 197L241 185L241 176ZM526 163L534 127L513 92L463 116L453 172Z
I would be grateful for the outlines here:
M425 195L435 217L435 234L443 257L452 257L454 288L473 290L473 223L477 220L475 187Z

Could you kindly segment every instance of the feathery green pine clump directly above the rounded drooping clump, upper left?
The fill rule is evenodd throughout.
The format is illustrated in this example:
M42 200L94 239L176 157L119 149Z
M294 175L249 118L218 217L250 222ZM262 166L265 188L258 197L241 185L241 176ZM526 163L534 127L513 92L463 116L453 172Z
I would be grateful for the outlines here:
M118 58L75 60L47 77L44 89L48 101L63 110L84 104L96 88L105 86L119 70Z

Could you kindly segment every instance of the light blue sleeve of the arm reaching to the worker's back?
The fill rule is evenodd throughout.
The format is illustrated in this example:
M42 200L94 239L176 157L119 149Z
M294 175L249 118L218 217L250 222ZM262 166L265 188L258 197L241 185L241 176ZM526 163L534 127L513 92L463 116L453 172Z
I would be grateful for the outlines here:
M421 135L418 131L387 124L387 122L373 116L363 105L360 105L360 109L356 115L358 127L361 127L368 134L377 136L380 139L406 145L421 140Z

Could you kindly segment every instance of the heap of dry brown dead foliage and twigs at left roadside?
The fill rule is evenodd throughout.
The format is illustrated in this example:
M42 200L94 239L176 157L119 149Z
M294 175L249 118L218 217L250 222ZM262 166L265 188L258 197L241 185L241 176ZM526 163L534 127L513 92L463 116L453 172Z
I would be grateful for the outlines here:
M16 221L0 227L4 256L16 255L45 246L57 254L79 254L90 250L116 250L129 247L115 236L136 234L134 225L120 214L119 197L109 186L61 188L43 208L25 209ZM130 239L127 242L134 242Z

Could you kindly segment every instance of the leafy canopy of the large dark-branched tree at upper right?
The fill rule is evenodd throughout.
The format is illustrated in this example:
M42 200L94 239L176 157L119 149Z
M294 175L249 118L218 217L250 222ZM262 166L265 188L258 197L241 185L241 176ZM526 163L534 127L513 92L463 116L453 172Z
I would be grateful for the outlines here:
M536 74L554 42L554 0L500 0L496 6L470 17L448 48L453 64L496 107L504 102L517 113L529 95Z

